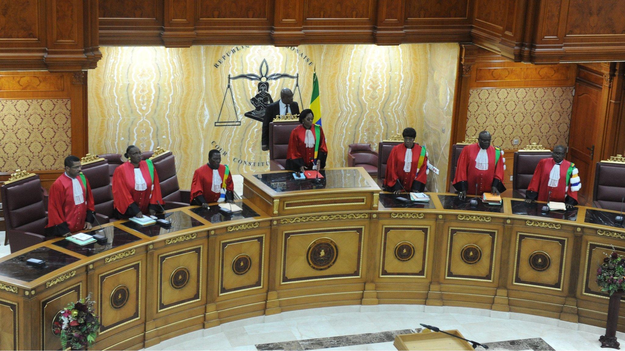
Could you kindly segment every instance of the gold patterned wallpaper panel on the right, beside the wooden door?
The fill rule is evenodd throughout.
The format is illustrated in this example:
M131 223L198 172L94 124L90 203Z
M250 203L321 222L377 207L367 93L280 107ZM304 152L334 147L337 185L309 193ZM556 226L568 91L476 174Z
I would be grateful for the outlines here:
M566 145L571 124L573 87L471 89L466 136L482 130L503 149L536 142L550 149ZM512 140L519 139L519 145Z

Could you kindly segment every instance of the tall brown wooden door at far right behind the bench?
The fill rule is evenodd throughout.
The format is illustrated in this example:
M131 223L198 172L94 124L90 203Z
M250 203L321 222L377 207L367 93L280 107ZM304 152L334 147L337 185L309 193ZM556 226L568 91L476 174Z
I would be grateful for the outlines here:
M599 101L601 86L594 82L577 79L571 113L569 131L569 154L567 159L575 163L582 181L579 194L586 199L592 195L592 176L594 164L599 160L599 141L597 140L599 123Z

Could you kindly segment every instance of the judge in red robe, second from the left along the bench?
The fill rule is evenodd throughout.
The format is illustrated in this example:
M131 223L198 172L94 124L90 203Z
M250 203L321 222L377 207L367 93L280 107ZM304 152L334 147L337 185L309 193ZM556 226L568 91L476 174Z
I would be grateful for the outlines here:
M164 204L158 174L153 169L154 182L148 160L142 161L143 153L131 145L124 157L128 159L113 172L113 206L116 217L143 217L163 212Z

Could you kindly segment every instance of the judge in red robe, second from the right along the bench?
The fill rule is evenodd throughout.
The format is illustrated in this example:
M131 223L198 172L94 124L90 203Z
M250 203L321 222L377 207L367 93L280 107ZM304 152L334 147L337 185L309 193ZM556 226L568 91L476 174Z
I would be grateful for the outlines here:
M499 147L491 146L491 134L487 131L480 132L477 143L465 146L458 157L453 182L458 197L464 200L466 194L482 195L484 192L491 192L499 195L506 191L503 184L506 159L503 156L504 152Z

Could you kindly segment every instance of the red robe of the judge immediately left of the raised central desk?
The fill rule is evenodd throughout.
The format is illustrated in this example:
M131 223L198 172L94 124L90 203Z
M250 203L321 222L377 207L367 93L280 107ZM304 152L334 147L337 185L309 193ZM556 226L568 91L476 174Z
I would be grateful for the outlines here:
M204 164L193 173L193 180L191 181L191 205L202 205L211 202L217 202L221 192L213 192L212 187L212 172L208 164ZM224 174L226 173L226 166L220 164L218 168L219 177L221 181L224 180ZM221 189L219 184L219 188ZM232 200L234 198L234 183L232 183L232 174L228 175L226 179L226 199Z

